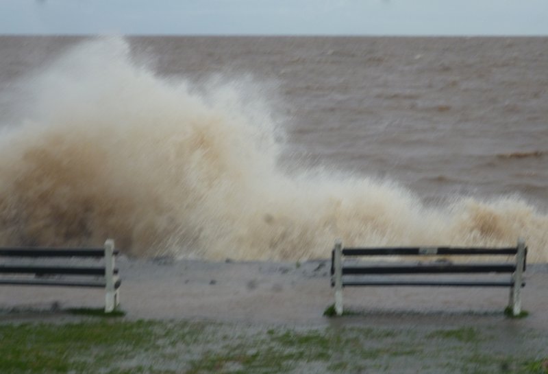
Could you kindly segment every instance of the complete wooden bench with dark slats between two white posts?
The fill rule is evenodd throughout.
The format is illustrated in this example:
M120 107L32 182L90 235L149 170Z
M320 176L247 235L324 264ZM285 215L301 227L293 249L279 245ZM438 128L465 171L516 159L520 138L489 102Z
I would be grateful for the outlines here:
M405 261L404 257L416 256L425 261ZM466 262L453 263L445 257L464 257ZM506 261L486 263L468 262L472 257L506 257ZM369 261L359 261L368 257ZM508 257L513 257L512 262ZM521 313L520 290L525 286L523 272L527 248L519 239L511 248L451 248L451 247L408 247L408 248L343 248L340 240L332 250L331 284L335 288L335 312L343 314L343 288L355 286L446 286L446 287L509 287L508 307L512 314ZM376 259L376 262L371 261ZM382 261L379 262L379 259ZM386 259L392 261L386 261ZM416 274L422 275L417 278ZM445 275L440 279L438 275ZM455 278L447 274L476 274L471 277ZM477 274L482 274L481 278ZM506 274L502 275L501 274ZM520 285L516 287L515 285Z

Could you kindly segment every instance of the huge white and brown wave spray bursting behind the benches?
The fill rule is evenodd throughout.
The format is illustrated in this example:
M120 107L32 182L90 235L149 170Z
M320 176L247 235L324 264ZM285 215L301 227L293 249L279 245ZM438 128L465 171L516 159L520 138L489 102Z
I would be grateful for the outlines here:
M0 242L132 255L329 257L349 245L512 245L548 261L548 216L519 197L427 207L390 180L277 167L281 126L249 86L159 78L121 38L79 45L30 83L0 141ZM23 100L23 98L21 98Z

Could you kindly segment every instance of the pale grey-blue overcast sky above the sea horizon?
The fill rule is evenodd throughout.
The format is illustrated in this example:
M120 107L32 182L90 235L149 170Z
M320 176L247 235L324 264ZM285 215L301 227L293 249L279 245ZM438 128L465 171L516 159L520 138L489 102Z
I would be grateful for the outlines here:
M0 0L0 34L548 35L548 0Z

